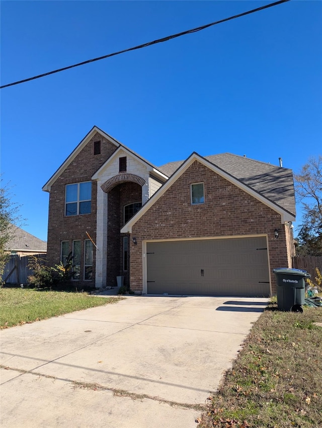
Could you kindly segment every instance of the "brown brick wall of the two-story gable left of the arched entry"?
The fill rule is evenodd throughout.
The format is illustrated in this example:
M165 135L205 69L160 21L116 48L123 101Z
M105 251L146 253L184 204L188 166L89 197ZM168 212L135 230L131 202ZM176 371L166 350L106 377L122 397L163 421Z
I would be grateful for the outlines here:
M101 154L94 155L94 141L98 140L101 140ZM115 150L117 150L117 147L114 144L101 134L96 133L51 186L49 196L47 264L53 266L60 262L61 241L69 241L71 250L72 241L81 240L82 265L79 284L95 284L95 247L93 279L84 282L83 271L84 240L88 239L86 231L91 235L94 242L96 242L97 183L95 181L92 182L91 213L68 217L65 217L65 185L82 181L91 181L93 174L106 162Z

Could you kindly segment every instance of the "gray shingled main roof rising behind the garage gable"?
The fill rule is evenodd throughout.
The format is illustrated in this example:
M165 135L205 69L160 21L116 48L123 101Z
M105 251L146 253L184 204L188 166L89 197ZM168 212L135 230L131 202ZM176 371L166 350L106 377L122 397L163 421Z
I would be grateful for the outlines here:
M292 170L230 153L205 156L204 159L295 215ZM171 176L183 163L184 161L170 162L158 169Z

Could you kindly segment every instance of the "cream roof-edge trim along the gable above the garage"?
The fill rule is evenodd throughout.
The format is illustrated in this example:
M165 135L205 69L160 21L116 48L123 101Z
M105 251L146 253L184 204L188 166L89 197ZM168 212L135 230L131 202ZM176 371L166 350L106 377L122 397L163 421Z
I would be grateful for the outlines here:
M193 162L198 161L202 165L206 166L210 170L214 171L216 174L228 180L230 183L239 187L241 190L244 190L246 193L255 197L260 202L274 209L282 217L282 223L288 221L295 221L295 215L292 212L288 211L278 203L274 202L272 199L263 195L263 193L254 189L249 184L244 183L238 178L231 175L229 172L225 171L223 168L220 168L210 162L208 159L203 158L198 155L198 153L192 153L189 158L184 161L181 166L172 174L168 181L165 182L155 193L154 195L147 200L147 202L141 207L139 211L126 223L126 225L121 229L121 233L131 233L132 226L144 215L144 213L173 185L173 183L193 164Z

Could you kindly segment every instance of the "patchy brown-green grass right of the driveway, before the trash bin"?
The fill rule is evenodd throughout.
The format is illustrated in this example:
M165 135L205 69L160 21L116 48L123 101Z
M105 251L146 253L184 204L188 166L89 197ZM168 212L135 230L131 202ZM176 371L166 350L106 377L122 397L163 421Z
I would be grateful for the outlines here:
M198 428L322 426L322 308L280 312L272 301L254 324Z

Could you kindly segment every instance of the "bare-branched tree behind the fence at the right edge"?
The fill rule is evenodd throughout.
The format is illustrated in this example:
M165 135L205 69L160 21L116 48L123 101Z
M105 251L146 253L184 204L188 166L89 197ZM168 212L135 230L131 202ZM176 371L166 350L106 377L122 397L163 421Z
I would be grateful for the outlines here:
M311 157L294 175L295 191L303 205L297 253L322 255L322 156Z

